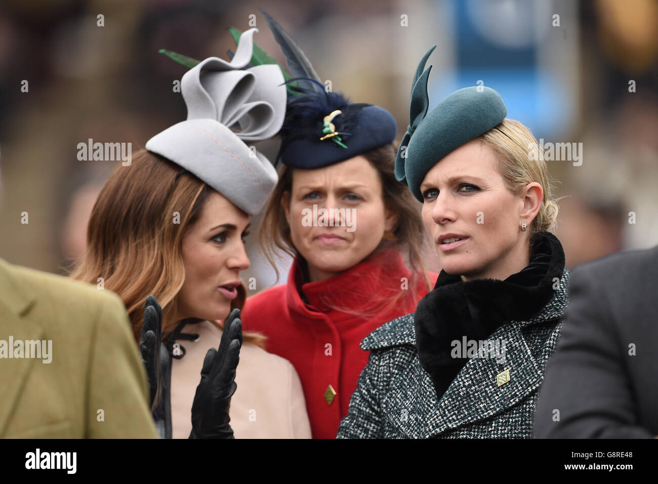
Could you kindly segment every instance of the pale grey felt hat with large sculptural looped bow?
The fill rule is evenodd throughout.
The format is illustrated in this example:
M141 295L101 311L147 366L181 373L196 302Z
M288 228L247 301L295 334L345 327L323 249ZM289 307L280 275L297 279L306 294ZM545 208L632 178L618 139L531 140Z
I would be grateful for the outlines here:
M272 163L245 142L278 132L287 98L278 65L249 67L255 32L251 28L241 34L230 62L185 58L188 66L196 63L180 83L188 119L156 134L145 146L190 171L249 215L263 209L278 176Z

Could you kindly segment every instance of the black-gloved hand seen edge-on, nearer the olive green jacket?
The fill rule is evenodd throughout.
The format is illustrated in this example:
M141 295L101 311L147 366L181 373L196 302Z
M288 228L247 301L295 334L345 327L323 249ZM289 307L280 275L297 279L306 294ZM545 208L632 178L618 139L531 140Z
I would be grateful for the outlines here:
M163 378L169 364L169 354L162 343L162 320L163 309L155 296L148 296L144 305L139 352L151 391L151 413L160 436L164 438Z

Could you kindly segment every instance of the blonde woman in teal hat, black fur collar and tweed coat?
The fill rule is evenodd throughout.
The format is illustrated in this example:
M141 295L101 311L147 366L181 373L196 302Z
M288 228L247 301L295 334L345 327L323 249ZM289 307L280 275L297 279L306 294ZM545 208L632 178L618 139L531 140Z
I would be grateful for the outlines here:
M491 88L428 113L426 53L395 167L422 201L442 271L415 313L373 331L342 438L532 438L567 306L557 203L537 142Z

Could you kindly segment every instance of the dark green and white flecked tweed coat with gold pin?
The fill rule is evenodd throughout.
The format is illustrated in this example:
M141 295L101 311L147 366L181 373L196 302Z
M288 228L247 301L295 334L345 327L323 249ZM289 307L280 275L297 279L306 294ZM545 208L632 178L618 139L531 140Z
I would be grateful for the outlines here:
M531 439L544 367L555 350L567 306L569 270L553 298L527 321L509 321L490 336L506 342L505 362L471 358L438 400L420 366L413 313L379 327L362 342L370 359L337 438ZM509 381L497 375L509 369Z

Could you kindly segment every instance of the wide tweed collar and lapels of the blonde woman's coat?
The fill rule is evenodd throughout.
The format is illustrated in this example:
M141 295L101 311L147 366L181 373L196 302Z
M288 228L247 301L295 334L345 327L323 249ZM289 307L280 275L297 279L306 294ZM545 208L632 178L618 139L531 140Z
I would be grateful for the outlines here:
M415 350L413 314L382 325L361 343L363 350L393 348L391 366L395 378L382 398L382 414L397 432L411 439L436 437L518 404L542 384L542 364L550 350L537 362L521 329L561 317L567 305L569 271L563 271L560 287L545 308L528 321L510 321L489 336L505 342L505 360L472 358L457 374L439 401L430 375L420 365ZM402 369L397 376L397 369ZM497 376L509 370L509 381L498 385ZM386 381L386 378L384 378Z

